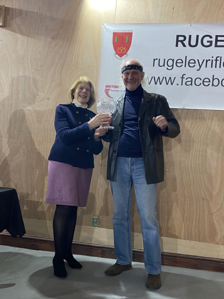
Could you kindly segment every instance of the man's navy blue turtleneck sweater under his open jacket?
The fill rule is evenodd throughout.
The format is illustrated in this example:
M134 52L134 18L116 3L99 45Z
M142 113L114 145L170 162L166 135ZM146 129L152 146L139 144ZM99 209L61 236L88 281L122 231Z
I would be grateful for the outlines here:
M123 126L121 129L117 156L141 158L142 145L139 135L139 108L142 101L143 89L140 84L135 90L125 89L125 104Z

